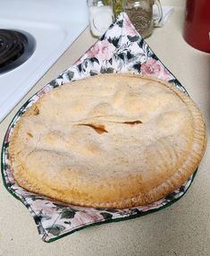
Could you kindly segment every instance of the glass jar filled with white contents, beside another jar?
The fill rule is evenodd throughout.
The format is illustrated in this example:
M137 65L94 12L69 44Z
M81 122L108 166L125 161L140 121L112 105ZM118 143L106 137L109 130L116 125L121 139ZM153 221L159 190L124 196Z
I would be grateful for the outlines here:
M100 37L113 23L113 1L88 0L89 29L93 37Z

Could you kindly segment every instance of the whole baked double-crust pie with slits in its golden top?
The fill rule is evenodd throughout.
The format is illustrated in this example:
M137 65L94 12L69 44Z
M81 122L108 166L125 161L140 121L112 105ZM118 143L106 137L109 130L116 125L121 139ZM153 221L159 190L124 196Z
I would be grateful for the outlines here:
M206 148L196 104L170 83L102 74L50 90L9 145L21 187L74 205L124 209L181 187Z

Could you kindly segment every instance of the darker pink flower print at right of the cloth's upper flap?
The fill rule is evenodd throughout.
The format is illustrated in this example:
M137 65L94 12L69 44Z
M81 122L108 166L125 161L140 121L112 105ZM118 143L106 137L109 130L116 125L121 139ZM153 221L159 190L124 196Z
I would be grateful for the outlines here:
M164 68L164 65L152 57L148 57L147 62L141 64L140 72L141 74L163 79L164 81L172 79L172 74Z

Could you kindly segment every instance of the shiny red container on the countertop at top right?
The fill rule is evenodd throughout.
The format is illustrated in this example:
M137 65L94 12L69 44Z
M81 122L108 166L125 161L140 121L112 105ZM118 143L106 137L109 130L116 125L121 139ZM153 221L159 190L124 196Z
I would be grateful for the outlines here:
M210 53L210 0L187 0L183 38L191 47Z

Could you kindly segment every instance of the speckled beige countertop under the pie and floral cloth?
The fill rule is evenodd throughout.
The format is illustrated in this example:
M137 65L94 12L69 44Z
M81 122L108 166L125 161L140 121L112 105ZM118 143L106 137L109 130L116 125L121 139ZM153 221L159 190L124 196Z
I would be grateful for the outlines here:
M174 13L164 28L155 29L147 43L181 81L200 107L210 135L210 55L189 47L181 36L184 1L162 1ZM28 95L0 124L0 140L21 105L38 89L68 68L96 41L85 30ZM0 255L209 255L210 252L210 158L209 142L196 178L184 197L171 207L141 218L92 226L44 243L37 226L20 201L0 179Z

